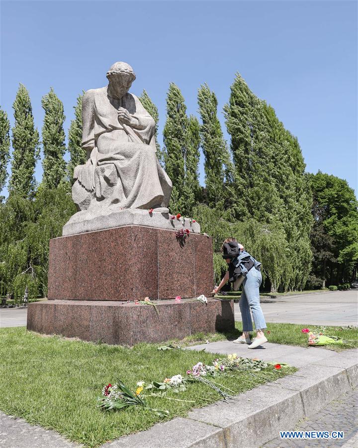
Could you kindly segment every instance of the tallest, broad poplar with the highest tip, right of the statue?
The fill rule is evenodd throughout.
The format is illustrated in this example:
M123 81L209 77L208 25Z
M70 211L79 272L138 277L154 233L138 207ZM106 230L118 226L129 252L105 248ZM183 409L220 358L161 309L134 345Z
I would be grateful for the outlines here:
M234 161L235 214L259 222L280 220L281 201L272 180L272 147L262 102L237 74L224 106Z

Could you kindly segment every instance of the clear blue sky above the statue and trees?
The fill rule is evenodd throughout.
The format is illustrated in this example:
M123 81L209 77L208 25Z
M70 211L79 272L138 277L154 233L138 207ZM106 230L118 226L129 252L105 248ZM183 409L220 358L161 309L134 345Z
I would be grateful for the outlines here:
M240 72L298 137L307 171L357 191L357 1L1 1L0 104L11 125L21 82L39 131L41 97L55 89L67 132L78 94L106 85L115 61L134 68L131 91L147 90L160 133L169 82L190 114L207 82L227 139L222 107Z

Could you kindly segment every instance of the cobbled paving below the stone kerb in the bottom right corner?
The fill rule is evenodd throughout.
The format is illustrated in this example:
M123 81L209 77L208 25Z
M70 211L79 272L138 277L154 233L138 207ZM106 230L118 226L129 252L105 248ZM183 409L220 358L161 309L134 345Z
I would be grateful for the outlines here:
M295 431L344 431L344 439L273 439L263 448L281 447L358 447L358 390L332 401L317 414L301 422Z

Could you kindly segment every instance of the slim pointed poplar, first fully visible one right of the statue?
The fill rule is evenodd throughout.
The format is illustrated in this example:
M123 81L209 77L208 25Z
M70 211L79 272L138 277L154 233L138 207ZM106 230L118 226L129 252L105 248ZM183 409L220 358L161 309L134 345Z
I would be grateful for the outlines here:
M179 87L170 83L167 94L167 121L163 138L165 145L164 161L166 172L173 182L170 209L181 213L185 179L185 158L187 149L188 118L184 98Z

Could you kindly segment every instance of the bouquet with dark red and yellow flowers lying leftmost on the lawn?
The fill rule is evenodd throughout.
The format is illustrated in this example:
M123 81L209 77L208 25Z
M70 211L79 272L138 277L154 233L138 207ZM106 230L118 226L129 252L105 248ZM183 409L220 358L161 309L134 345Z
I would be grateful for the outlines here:
M102 396L97 399L98 407L105 411L109 411L110 409L141 407L147 411L154 412L160 417L167 416L169 414L168 411L150 408L145 399L139 396L143 390L144 383L141 385L139 384L140 383L137 383L136 392L131 391L120 380L118 380L118 382L114 385L107 384L102 389Z

